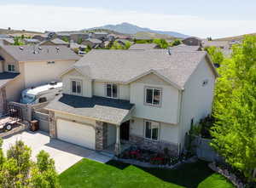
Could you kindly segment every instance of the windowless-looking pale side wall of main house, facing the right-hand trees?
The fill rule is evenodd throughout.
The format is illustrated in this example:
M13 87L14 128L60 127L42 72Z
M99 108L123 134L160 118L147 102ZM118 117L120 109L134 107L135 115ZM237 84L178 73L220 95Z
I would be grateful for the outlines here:
M207 84L203 85L203 82ZM189 77L183 92L182 106L182 129L180 132L181 143L184 143L184 135L191 127L191 120L194 124L201 118L207 117L212 112L212 100L214 94L215 76L212 68L204 59L201 61L195 72Z

